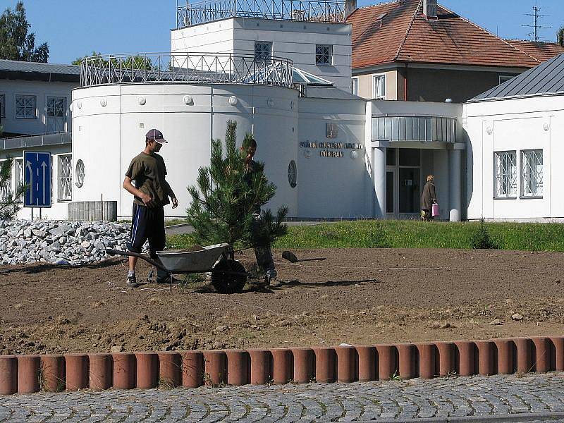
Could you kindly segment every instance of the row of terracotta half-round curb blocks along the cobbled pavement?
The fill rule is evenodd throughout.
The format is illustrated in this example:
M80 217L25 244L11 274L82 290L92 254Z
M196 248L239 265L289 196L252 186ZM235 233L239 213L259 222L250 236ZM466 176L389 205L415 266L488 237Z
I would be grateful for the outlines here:
M0 355L0 395L564 371L564 336L314 348Z

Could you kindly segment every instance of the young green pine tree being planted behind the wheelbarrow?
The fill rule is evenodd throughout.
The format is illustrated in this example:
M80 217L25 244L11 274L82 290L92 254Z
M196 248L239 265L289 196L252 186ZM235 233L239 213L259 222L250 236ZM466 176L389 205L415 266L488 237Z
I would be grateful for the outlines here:
M255 222L252 230L253 212L274 197L276 185L266 179L263 163L257 162L258 170L247 173L246 152L237 148L236 134L237 123L228 121L225 151L221 140L212 140L210 165L198 169L197 185L188 187L192 196L188 222L195 230L193 239L200 245L228 243L247 248L271 243L287 231L283 223L287 207L279 208L276 218L270 210L263 210L258 227ZM243 145L250 140L252 135L245 135Z

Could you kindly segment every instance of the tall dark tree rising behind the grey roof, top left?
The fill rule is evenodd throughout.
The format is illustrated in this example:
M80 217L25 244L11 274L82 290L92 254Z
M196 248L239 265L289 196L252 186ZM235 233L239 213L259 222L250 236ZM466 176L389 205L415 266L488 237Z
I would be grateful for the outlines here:
M35 47L35 34L27 33L30 26L23 1L18 1L13 11L6 8L0 16L0 59L47 63L49 45L44 42Z

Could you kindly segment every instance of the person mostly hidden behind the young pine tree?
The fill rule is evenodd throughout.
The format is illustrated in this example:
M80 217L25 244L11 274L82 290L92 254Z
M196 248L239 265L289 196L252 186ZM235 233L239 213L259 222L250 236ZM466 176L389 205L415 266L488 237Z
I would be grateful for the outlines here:
M251 186L252 178L255 173L261 171L259 165L253 157L257 152L257 141L252 137L245 137L243 145L241 146L241 151L245 153L245 180ZM260 269L264 270L264 282L266 285L270 285L271 282L276 279L277 273L274 268L274 259L272 259L272 252L270 249L270 243L268 240L261 240L259 237L259 231L262 227L260 207L255 208L252 211L252 235L255 240L255 257L257 257L257 264Z

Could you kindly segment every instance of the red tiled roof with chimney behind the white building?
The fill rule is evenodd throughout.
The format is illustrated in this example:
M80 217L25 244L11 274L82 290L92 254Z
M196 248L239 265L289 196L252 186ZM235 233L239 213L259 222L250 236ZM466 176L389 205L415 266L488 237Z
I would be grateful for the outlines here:
M393 62L532 68L562 51L507 41L440 5L437 15L427 20L422 0L358 8L347 19L353 68Z

